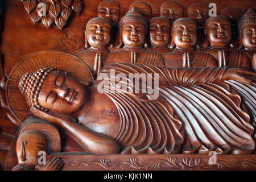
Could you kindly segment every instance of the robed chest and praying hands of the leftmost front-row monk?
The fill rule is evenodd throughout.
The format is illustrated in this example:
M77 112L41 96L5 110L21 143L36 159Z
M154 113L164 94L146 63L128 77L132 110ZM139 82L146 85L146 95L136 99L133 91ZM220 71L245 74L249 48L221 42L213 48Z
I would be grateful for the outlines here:
M101 53L96 56L97 53ZM104 65L104 62L106 61L109 51L104 50L104 51L91 51L91 50L86 50L82 52L76 53L77 56L79 56L92 70L94 78L97 77L98 72L100 72L101 68Z

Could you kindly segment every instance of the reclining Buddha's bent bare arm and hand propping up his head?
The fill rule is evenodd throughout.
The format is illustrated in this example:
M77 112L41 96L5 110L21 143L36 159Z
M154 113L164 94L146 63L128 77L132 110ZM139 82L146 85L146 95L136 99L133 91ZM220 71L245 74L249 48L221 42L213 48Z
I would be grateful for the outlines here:
M118 142L105 135L96 133L79 125L71 119L62 115L46 113L45 111L31 108L37 117L55 123L60 126L68 135L75 139L87 152L93 154L118 154L121 150Z

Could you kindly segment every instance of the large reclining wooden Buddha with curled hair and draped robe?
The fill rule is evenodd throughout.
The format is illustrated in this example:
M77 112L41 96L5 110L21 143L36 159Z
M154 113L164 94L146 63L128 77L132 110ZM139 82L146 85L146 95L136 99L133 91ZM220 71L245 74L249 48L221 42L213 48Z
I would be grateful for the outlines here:
M158 73L147 81L151 79L159 96L151 98L148 90L123 92L124 85L108 92L118 83L119 73L122 84L133 83L129 73ZM24 75L19 89L36 117L59 126L93 154L250 154L255 143L249 115L224 82L232 78L251 82L248 76L255 73L240 68L114 63L106 65L90 87L68 73L42 68ZM133 90L134 84L130 86Z

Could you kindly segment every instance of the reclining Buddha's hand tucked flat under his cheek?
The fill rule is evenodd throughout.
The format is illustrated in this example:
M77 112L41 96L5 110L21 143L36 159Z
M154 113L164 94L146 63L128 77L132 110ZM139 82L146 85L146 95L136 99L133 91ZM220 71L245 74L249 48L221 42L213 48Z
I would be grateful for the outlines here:
M43 110L37 109L36 107L31 107L30 110L32 114L35 115L35 117L42 118L56 125L61 125L61 123L63 123L64 121L76 122L75 118L69 117L67 115L61 115L61 114L51 113L49 111L48 112L43 111Z

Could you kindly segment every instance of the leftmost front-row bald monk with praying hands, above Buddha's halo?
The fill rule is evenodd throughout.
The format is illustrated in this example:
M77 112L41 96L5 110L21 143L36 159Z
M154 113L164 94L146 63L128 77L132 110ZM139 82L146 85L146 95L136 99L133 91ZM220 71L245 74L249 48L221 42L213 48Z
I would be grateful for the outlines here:
M94 78L100 72L109 55L109 44L112 40L112 22L106 18L93 18L86 24L85 48L86 51L77 53L86 64L92 69Z

